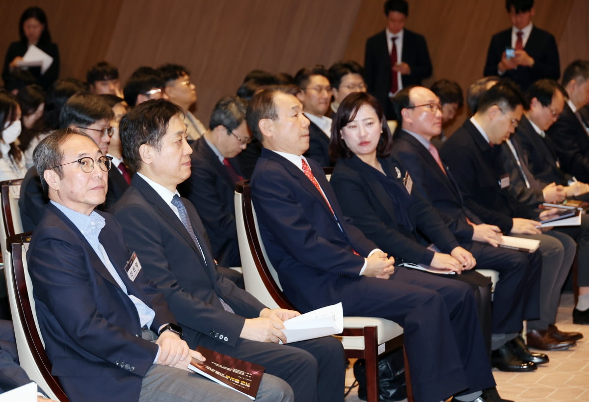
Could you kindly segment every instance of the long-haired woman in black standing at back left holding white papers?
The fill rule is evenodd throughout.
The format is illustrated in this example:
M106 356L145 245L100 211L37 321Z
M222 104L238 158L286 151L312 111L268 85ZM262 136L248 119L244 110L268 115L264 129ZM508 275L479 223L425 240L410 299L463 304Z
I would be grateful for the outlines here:
M20 40L12 42L6 51L2 80L8 81L10 73L18 68L18 62L22 60L29 46L35 45L53 58L53 62L44 74L39 68L30 70L37 79L37 83L47 91L59 76L59 51L57 45L51 42L47 15L39 7L29 7L22 13L18 24Z

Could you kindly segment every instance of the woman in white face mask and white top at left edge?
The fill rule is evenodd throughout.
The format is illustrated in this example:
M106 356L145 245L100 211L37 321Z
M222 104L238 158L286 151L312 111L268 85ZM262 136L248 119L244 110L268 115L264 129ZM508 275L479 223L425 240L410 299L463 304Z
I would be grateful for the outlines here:
M21 107L14 95L0 89L0 181L25 177L25 159L15 144L21 135Z

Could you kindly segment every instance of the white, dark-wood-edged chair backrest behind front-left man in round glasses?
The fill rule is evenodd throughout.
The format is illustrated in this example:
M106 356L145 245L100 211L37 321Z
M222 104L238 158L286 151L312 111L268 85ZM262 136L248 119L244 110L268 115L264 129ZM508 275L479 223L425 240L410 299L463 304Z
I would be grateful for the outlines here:
M49 398L68 402L58 378L51 375L51 363L39 332L25 251L25 243L28 242L30 235L29 232L8 238L9 247L4 254L6 287L18 358L29 378L35 381Z

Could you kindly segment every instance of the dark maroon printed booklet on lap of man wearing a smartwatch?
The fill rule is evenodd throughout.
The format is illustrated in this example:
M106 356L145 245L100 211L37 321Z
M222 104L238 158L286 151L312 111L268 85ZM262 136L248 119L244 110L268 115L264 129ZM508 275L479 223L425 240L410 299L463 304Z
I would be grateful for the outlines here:
M205 347L199 346L196 351L206 358L206 361L192 359L188 368L201 376L207 377L222 386L256 399L260 382L264 374L264 367L239 358L227 356Z

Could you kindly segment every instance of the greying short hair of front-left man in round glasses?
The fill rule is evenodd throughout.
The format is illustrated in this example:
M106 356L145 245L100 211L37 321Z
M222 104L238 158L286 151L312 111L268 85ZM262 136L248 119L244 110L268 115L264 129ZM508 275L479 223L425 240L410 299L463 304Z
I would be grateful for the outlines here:
M33 162L45 194L48 191L47 182L45 182L45 178L43 177L46 170L55 169L59 178L64 178L64 171L59 166L64 159L64 152L61 147L72 135L81 135L82 137L90 138L96 144L90 135L84 134L77 128L66 127L57 129L42 139L33 151Z

